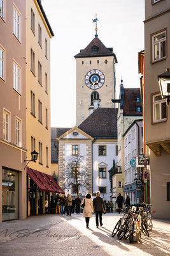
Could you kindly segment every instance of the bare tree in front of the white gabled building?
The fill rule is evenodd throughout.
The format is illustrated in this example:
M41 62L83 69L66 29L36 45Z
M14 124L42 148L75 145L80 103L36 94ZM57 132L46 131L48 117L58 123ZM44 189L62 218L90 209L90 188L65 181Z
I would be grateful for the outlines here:
M64 166L64 188L70 188L72 184L76 185L76 193L78 195L79 188L88 188L90 183L89 173L83 156L71 157Z

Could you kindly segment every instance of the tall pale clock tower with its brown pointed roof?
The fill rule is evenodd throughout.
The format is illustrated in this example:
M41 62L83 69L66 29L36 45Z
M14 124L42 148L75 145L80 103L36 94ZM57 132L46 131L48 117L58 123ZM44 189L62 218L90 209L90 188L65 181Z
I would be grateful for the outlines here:
M95 38L74 56L76 59L76 126L96 108L114 108L111 99L116 96L113 48L107 48Z

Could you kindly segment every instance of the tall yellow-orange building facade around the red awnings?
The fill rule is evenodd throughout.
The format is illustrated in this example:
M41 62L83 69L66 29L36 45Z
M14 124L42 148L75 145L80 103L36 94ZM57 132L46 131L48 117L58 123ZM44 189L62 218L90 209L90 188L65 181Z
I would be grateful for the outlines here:
M39 0L26 1L26 18L27 159L31 159L31 152L36 150L38 160L29 163L29 168L51 174L50 40L53 31ZM45 192L34 192L30 188L28 179L28 216L39 213L38 204L43 205L40 213L44 213Z

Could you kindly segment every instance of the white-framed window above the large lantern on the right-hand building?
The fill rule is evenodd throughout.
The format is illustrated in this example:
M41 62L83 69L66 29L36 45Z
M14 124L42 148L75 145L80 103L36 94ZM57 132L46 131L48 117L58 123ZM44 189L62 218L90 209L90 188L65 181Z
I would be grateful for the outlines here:
M166 31L162 31L152 36L152 61L166 58Z

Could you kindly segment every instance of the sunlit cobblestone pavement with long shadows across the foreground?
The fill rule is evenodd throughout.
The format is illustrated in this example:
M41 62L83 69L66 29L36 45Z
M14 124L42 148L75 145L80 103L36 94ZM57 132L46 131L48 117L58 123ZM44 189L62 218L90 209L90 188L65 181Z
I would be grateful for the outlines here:
M41 215L0 224L0 256L170 255L170 220L153 220L150 237L130 244L111 237L121 214L104 214L96 228L95 215L86 228L82 214Z

